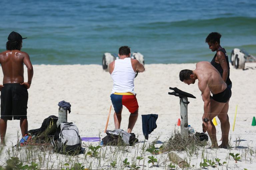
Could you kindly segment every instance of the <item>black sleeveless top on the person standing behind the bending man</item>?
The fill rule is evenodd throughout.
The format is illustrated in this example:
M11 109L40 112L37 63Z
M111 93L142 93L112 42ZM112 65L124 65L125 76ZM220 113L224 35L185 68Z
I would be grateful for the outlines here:
M222 48L221 46L217 49L217 52L218 52L218 51L221 51L221 52L223 52L223 53L225 54L225 58L226 58L226 61L227 61L227 64L228 64L228 77L227 77L227 80L226 80L226 84L229 86L230 84L232 84L232 82L231 82L231 80L230 80L230 78L229 78L229 70L230 70L230 67L229 67L229 62L228 62L228 54L227 54L225 48ZM217 52L216 52L216 54L214 55L214 57L213 57L213 59L212 59L212 61L211 61L211 64L219 71L219 73L220 73L220 75L221 75L221 77L222 77L222 75L223 75L223 69L222 69L220 63L215 62L215 58L216 58L216 56L217 56Z

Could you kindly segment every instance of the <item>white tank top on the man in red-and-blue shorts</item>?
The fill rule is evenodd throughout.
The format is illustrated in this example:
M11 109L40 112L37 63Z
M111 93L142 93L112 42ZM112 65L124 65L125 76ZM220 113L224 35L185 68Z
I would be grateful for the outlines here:
M113 80L113 93L134 92L135 72L132 68L131 58L115 60L115 68L111 74Z

